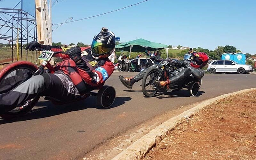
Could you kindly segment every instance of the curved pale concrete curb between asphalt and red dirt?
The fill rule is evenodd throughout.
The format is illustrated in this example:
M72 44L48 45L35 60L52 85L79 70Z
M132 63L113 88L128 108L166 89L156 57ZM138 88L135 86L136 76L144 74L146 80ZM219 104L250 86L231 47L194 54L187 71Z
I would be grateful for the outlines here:
M184 122L187 118L193 116L201 109L205 108L208 105L215 103L217 100L221 100L227 98L232 95L236 95L239 93L250 92L256 90L256 88L245 89L233 93L223 94L219 97L215 97L209 100L205 100L195 107L181 113L178 116L172 117L171 119L165 121L163 124L160 124L155 129L150 131L148 134L141 137L139 140L135 141L131 146L123 150L117 156L112 158L111 160L138 160L145 156L148 151L156 145L159 141L161 141L169 131L175 128L177 124Z

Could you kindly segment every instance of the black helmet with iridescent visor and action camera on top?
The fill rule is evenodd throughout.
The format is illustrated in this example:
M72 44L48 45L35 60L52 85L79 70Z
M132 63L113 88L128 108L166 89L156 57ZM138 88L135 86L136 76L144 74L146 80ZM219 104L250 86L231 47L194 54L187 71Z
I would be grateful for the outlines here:
M92 40L92 58L94 60L103 60L108 58L114 51L116 46L116 38L113 32L108 28L101 28L100 33L94 36Z

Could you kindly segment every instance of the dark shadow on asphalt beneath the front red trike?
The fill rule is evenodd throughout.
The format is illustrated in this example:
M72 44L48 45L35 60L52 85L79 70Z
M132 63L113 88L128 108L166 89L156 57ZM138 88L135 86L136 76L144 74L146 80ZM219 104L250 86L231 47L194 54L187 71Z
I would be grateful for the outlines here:
M131 97L116 97L115 102L110 108L118 107L124 104L125 101L129 101L131 99L132 99ZM47 107L43 107L43 106L47 106ZM12 119L1 119L0 124L45 118L45 117L60 115L60 114L68 113L72 111L83 110L87 108L105 109L105 108L100 108L95 100L81 100L81 101L76 101L73 103L58 105L58 106L53 105L51 101L39 101L36 103L36 106L34 107L34 109L29 111L25 115L12 118ZM110 108L107 108L107 109L110 109Z

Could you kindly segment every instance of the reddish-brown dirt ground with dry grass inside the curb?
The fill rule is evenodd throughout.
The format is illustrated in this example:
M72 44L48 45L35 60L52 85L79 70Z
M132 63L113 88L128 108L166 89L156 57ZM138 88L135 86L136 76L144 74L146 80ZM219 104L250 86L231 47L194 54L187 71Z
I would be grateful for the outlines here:
M256 160L256 91L210 105L152 148L144 160Z

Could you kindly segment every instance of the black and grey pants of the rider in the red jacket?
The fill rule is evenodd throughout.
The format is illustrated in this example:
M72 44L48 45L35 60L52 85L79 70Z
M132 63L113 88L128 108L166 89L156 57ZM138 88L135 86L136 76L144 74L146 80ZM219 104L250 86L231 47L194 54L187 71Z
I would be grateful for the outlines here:
M63 74L33 76L10 92L0 94L0 111L11 110L34 98L37 94L68 101L80 93L70 78Z

